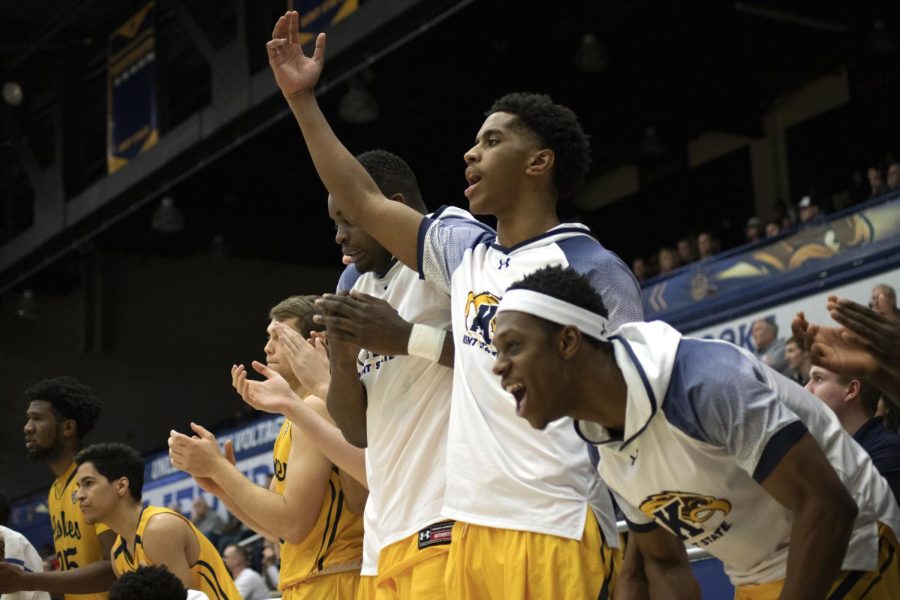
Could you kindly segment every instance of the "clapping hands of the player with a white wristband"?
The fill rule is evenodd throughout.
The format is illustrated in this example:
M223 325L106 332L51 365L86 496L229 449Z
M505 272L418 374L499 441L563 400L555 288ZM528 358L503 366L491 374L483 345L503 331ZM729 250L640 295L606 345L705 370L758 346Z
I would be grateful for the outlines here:
M406 354L412 323L384 300L353 291L325 294L316 304L324 314L315 319L325 324L332 343L349 343L386 356Z

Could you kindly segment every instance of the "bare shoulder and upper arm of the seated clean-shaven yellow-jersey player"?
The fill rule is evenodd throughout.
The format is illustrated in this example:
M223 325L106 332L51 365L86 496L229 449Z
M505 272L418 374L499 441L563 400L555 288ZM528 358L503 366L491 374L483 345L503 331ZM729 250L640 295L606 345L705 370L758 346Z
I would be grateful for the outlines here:
M174 514L155 515L144 527L141 544L151 563L166 567L185 588L196 589L191 566L198 560L200 545L184 519Z

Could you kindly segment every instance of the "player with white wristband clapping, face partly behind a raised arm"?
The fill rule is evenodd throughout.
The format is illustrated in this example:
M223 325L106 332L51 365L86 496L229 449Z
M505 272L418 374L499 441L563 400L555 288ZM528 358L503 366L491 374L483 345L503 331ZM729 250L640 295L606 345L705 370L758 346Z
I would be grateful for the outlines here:
M403 159L383 150L357 159L386 198L424 214ZM351 260L338 288L355 283L350 295L326 295L317 304L331 357L329 411L348 440L367 448L365 536L366 547L374 547L364 553L362 573L377 574L378 589L367 593L440 599L453 525L441 517L452 372L438 364L453 356L452 336L445 335L450 299L393 260L332 199L328 210L335 241ZM249 386L257 408L290 416L297 404L267 393L268 384Z

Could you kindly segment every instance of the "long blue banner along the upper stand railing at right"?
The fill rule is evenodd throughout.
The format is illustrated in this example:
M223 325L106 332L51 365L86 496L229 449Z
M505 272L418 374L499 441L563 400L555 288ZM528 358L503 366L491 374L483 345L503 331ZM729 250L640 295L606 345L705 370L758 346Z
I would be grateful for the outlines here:
M705 326L706 317L774 305L897 257L900 195L874 200L809 224L774 240L742 246L691 263L643 285L644 318L675 327ZM880 261L880 262L879 262ZM754 306L755 305L755 306ZM688 326L687 322L692 323Z

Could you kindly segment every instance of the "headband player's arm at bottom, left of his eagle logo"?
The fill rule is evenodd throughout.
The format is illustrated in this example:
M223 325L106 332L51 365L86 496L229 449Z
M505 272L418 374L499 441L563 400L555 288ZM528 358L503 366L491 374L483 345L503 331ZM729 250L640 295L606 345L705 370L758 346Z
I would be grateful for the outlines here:
M630 531L613 598L698 600L684 543L661 527Z

